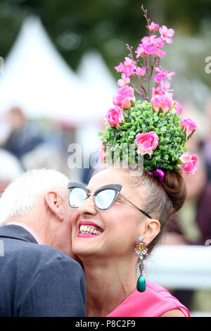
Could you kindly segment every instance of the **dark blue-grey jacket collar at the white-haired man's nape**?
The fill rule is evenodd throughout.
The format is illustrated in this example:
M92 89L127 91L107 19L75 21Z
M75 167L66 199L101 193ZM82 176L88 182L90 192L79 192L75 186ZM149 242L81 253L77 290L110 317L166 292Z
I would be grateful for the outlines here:
M7 237L11 239L19 239L24 242L32 242L38 244L37 240L20 225L2 225L0 226L0 237Z

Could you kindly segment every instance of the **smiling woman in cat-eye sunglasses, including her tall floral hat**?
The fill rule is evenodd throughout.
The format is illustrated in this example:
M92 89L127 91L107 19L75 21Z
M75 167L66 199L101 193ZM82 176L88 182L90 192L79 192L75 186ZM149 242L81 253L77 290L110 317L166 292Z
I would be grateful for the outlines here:
M88 187L69 185L75 208L72 250L84 264L87 316L189 316L176 298L142 275L144 258L184 204L186 186L179 171L193 174L198 163L185 146L197 125L179 118L182 108L172 99L169 82L175 73L160 68L174 30L150 24L143 13L148 35L135 51L136 60L127 45L129 57L115 67L122 73L120 89L100 132L99 160L121 166L98 171ZM134 91L143 102L135 103Z

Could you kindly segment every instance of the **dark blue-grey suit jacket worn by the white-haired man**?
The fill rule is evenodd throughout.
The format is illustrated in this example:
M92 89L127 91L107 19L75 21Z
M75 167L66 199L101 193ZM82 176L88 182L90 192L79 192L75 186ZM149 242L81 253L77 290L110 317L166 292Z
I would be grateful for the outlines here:
M82 267L18 225L0 227L0 317L85 316Z

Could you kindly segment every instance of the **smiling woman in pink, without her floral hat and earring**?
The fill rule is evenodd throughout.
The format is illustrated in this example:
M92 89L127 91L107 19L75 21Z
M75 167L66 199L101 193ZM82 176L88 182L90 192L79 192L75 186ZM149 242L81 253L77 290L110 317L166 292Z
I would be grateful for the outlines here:
M101 187L110 192L102 193ZM144 238L150 253L184 203L181 175L167 172L161 184L147 173L134 176L129 169L106 168L91 177L87 188L77 183L69 188L75 208L72 250L84 265L87 316L189 316L186 307L152 282L138 292L135 273L137 238Z

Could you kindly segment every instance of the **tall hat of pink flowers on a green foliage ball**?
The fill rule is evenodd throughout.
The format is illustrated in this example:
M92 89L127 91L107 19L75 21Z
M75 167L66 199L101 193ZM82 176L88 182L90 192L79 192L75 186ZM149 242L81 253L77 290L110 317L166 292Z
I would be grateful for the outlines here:
M126 158L130 162L133 158L138 163L142 156L143 170L158 175L159 180L163 180L167 169L194 174L198 158L189 154L186 142L198 125L191 118L180 118L183 108L170 89L175 73L160 67L166 44L172 44L174 30L150 22L147 10L143 6L141 9L148 36L141 39L135 54L133 47L126 44L129 55L115 66L121 73L117 81L120 88L113 96L113 108L106 114L106 128L99 132L99 162L108 162L107 146L112 146L112 158L117 149L120 160ZM141 100L136 101L135 93ZM134 145L132 156L124 153L125 145Z

